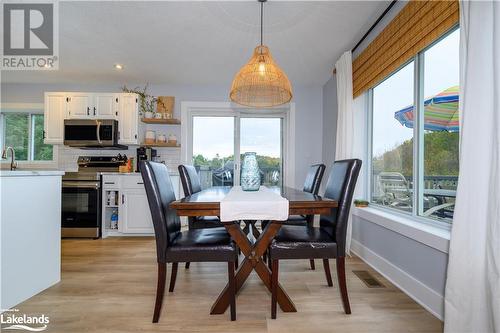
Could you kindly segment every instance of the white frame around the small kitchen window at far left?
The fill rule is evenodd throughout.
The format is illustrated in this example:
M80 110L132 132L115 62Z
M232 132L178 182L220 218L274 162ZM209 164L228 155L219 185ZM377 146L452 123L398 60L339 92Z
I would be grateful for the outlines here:
M34 115L44 115L43 103L2 103L0 106L0 126L2 128L0 135L0 147L3 150L4 136L5 136L5 114L27 114L28 115L28 159L16 160L19 165L29 166L57 166L57 146L52 145L52 160L34 160ZM44 119L45 120L45 119ZM7 159L0 159L0 164L10 163L10 157Z

